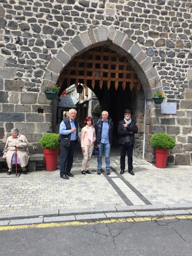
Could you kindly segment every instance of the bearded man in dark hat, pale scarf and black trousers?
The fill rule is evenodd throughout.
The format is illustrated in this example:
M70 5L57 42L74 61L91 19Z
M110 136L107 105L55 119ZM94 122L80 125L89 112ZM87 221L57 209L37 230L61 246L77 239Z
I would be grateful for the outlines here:
M134 175L132 166L132 153L134 146L134 133L138 132L138 128L134 121L131 119L132 112L129 109L124 111L124 119L119 122L118 134L119 143L121 145L121 171L120 174L124 174L126 167L126 153L128 155L128 173Z

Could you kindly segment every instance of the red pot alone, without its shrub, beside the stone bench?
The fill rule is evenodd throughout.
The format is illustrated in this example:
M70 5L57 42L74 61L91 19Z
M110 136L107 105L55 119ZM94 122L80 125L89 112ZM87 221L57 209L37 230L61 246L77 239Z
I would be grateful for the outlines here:
M45 157L45 170L56 170L59 149L43 149L43 153Z

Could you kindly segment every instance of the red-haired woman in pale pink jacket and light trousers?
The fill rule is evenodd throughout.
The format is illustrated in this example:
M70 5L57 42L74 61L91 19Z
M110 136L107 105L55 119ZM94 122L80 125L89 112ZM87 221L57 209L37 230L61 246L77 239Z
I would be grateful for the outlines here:
M91 172L89 171L89 165L94 150L94 142L96 140L96 130L92 125L92 117L86 117L84 124L85 127L81 130L81 149L83 152L81 174L83 176L85 176L86 173L89 175L91 174Z

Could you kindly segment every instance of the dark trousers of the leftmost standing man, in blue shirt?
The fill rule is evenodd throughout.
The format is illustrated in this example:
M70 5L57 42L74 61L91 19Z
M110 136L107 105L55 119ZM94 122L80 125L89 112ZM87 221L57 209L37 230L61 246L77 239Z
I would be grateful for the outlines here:
M60 176L70 172L73 165L73 154L76 146L76 141L70 141L69 147L64 147L61 145L61 166L60 166Z

